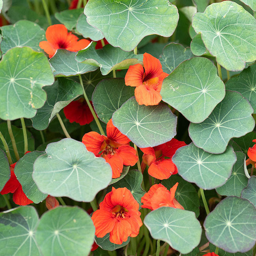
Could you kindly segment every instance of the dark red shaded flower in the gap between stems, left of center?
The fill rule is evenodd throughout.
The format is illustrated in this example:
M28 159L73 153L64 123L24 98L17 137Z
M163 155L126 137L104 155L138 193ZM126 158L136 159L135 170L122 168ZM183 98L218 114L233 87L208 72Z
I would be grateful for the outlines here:
M93 115L86 100L80 98L70 102L64 109L64 115L70 122L77 122L80 125L87 125L93 121Z

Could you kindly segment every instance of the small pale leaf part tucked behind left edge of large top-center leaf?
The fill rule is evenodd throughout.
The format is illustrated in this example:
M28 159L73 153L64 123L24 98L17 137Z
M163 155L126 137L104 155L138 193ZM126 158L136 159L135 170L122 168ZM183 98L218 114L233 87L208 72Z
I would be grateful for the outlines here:
M99 29L94 28L91 26L87 20L86 16L82 13L76 24L76 30L83 35L84 38L90 38L93 41L99 41L104 38L104 35L102 34Z

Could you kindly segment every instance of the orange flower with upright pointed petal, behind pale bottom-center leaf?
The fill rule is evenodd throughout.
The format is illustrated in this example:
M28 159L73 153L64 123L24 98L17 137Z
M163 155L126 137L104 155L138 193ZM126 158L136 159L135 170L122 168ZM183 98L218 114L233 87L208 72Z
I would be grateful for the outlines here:
M141 198L142 208L155 210L159 207L173 207L184 209L181 204L174 198L178 183L176 183L170 191L162 184L151 186L145 195Z

